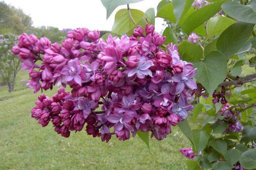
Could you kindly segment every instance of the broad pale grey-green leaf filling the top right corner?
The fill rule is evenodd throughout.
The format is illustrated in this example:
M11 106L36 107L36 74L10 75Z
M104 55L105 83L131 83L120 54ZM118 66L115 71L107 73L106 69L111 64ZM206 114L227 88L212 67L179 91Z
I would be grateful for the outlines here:
M251 0L248 5L230 1L222 4L221 7L232 18L236 18L242 22L256 24L256 0Z

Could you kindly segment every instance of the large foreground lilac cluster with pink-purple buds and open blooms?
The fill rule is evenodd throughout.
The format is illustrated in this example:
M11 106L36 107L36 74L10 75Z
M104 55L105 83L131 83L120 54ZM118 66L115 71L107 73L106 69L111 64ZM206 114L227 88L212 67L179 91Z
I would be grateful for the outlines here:
M190 89L196 89L193 64L180 59L177 45L161 48L165 37L154 26L138 26L132 36L99 38L99 31L77 28L62 43L51 43L34 35L19 36L12 53L19 55L34 93L60 88L52 99L39 96L32 117L68 137L82 130L108 142L137 131L151 131L158 140L171 133L171 126L184 120L193 109ZM41 56L43 56L41 58ZM41 65L36 62L42 60ZM101 105L102 111L95 111ZM110 132L110 128L113 131Z

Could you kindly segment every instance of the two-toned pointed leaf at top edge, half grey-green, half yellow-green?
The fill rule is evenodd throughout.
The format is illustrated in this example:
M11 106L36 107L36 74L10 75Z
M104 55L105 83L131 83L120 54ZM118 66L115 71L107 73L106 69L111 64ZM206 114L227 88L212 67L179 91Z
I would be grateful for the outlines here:
M194 0L172 0L176 23L185 15Z

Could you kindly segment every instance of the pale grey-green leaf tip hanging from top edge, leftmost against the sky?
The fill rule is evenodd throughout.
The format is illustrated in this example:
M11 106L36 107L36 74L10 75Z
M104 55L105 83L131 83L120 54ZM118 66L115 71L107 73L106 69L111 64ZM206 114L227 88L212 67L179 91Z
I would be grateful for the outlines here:
M107 10L107 19L111 15L111 13L120 5L137 3L143 0L101 0L101 3Z

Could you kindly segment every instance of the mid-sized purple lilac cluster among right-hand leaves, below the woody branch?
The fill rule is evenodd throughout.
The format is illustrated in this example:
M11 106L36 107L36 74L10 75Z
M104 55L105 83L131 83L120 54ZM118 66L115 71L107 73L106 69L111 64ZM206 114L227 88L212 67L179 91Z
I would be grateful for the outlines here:
M218 119L217 121L224 121L230 124L223 133L239 133L243 130L244 126L238 121L238 119L241 119L241 113L236 109L233 111L229 104L226 103L218 113L222 116L225 115L225 118L223 120Z

